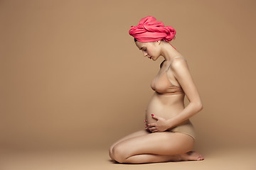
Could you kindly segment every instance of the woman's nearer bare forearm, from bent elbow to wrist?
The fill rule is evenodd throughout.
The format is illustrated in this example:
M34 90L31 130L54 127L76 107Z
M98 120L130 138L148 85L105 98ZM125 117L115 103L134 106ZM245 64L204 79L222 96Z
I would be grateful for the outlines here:
M186 108L184 108L183 111L181 111L181 113L167 120L169 122L170 128L173 128L176 125L182 123L183 121L188 120L193 115L196 115L196 113L198 113L202 109L202 104L189 103L188 106L186 106Z

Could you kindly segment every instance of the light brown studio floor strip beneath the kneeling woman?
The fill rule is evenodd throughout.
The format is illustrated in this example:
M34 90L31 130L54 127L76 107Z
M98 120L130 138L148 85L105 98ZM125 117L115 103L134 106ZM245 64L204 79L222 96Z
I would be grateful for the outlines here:
M215 148L201 151L205 160L154 164L117 164L108 150L51 152L1 152L1 170L85 170L85 169L256 169L256 147Z

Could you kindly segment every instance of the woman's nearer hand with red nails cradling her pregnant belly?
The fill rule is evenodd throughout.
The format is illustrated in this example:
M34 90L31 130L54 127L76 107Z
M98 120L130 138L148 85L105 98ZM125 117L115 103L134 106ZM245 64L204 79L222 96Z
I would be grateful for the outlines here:
M148 124L148 129L151 132L164 132L165 130L170 128L169 122L166 119L156 116L154 114L151 114L151 116L152 118L157 120L156 123Z

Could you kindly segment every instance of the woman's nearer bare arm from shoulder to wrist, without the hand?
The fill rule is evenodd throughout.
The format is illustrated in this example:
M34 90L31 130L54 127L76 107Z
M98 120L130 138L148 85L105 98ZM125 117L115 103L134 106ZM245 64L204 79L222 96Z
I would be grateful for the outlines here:
M193 81L186 60L177 58L176 61L171 64L174 77L178 80L178 83L181 85L190 103L183 109L183 111L181 111L181 113L168 120L170 128L188 120L203 109L201 98L198 94L198 90L196 89L196 85Z

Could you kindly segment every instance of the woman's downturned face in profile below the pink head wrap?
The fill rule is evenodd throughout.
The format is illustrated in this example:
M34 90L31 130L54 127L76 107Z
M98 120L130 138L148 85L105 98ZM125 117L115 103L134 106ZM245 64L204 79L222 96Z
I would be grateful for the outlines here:
M160 44L159 42L135 42L139 50L142 50L144 57L148 57L152 60L157 60L160 56Z

